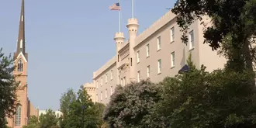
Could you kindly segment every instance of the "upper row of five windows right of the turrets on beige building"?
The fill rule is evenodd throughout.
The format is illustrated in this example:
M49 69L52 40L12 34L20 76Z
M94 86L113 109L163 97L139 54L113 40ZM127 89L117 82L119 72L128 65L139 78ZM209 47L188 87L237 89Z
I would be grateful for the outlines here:
M175 41L175 27L172 27L170 29L170 33L171 33L171 42ZM189 50L191 50L192 48L195 47L195 43L194 43L194 32L193 30L189 32ZM161 50L161 36L157 37L157 51ZM150 56L150 45L147 44L146 46L146 57ZM137 63L140 62L140 50L137 51Z

